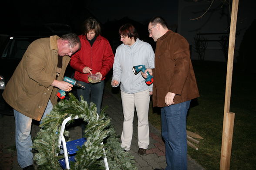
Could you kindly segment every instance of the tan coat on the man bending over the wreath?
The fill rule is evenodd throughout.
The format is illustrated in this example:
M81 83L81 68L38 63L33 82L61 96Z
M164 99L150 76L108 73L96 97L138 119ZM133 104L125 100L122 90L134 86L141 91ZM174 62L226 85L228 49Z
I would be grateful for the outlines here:
M58 36L37 39L30 44L3 92L5 101L20 113L39 121L49 98L57 103L57 90L51 86L56 78L58 62ZM62 80L69 56L63 57Z

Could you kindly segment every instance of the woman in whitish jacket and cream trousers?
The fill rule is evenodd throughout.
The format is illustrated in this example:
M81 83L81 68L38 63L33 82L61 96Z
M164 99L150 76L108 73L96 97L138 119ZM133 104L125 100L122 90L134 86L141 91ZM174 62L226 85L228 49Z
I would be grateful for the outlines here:
M136 107L138 117L138 154L146 153L149 145L148 108L152 86L145 83L141 74L135 75L132 67L145 65L155 68L155 53L152 46L138 39L138 33L131 24L119 28L120 40L123 42L116 49L111 85L117 87L121 83L121 99L124 122L121 135L121 147L130 150L132 139L132 123Z

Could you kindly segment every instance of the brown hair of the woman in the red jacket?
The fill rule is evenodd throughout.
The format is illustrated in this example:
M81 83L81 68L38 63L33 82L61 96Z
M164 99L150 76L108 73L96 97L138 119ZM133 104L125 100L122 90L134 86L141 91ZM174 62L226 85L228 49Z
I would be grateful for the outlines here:
M82 24L83 35L86 35L92 29L94 29L96 36L101 34L101 24L94 18L90 17L86 19Z

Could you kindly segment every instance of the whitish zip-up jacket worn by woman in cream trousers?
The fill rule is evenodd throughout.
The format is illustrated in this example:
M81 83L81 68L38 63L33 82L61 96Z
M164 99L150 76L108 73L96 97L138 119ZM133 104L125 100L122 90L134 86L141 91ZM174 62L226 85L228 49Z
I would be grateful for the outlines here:
M116 49L112 81L117 80L121 83L121 91L129 94L147 89L152 91L153 84L148 86L141 73L135 75L132 71L132 67L136 65L145 65L147 69L155 68L155 53L152 46L138 38L132 46L121 44Z

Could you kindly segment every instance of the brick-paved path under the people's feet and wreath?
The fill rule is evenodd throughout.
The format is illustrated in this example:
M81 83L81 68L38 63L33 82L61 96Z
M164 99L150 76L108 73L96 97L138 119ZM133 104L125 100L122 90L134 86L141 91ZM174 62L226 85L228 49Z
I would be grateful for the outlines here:
M121 98L113 95L110 90L105 89L102 101L102 108L108 106L106 113L111 118L111 124L114 125L118 136L122 133L123 113ZM34 122L34 121L33 121ZM150 144L145 155L138 155L137 142L137 116L135 114L133 125L133 138L131 142L130 152L136 161L138 170L154 170L155 168L165 168L165 144L162 141L161 133L151 124L150 130ZM31 136L35 137L39 126L37 122L32 125ZM81 137L81 126L72 127L70 137L76 139ZM15 120L13 116L0 114L0 170L21 170L17 163L15 148ZM195 160L188 157L188 170L204 170Z

